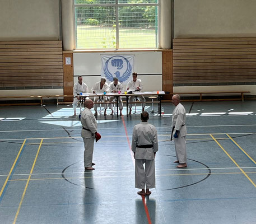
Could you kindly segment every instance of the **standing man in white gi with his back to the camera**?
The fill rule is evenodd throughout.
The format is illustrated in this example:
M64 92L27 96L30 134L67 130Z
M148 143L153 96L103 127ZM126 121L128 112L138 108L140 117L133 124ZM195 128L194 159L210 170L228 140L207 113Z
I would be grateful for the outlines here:
M140 195L150 195L150 188L155 188L155 157L158 151L157 132L149 124L147 111L141 113L141 123L133 128L132 151L135 158L135 187L140 188ZM145 170L144 166L145 164ZM145 192L146 185L146 192Z

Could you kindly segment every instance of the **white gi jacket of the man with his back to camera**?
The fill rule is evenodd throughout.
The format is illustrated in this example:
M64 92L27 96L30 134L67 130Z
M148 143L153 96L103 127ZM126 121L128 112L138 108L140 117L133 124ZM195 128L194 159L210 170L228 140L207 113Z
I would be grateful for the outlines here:
M153 144L152 148L138 148L138 146ZM134 126L132 134L132 151L137 160L154 160L154 152L158 151L157 132L154 125L141 122Z

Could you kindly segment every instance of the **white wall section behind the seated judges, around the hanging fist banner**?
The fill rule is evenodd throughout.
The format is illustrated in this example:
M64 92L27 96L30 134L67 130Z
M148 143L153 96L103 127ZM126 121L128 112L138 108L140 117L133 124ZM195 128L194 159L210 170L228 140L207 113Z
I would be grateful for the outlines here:
M83 81L91 90L95 82L100 81L101 54L117 53L74 53L74 76L83 76ZM118 52L118 55L135 55L134 72L143 82L143 91L162 90L162 53L161 52ZM151 74L151 75L139 75ZM153 74L153 75L152 75ZM158 74L158 75L157 75ZM77 77L74 77L74 83ZM125 86L124 86L125 87Z

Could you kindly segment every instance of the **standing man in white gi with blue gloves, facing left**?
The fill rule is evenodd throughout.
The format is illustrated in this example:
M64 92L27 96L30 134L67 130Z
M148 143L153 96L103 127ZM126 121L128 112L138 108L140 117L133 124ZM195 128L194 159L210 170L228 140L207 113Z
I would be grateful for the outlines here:
M187 150L186 150L186 110L180 103L180 96L174 95L171 100L175 109L173 110L173 130L171 131L171 140L174 137L175 152L177 160L174 162L179 163L178 168L187 167Z

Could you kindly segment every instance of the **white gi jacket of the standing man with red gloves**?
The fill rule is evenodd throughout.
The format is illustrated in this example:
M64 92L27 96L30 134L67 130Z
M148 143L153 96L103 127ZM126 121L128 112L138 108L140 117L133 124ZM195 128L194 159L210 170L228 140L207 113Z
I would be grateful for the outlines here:
M82 128L81 136L83 138L94 137L94 133L97 132L97 120L89 108L85 108L82 111L81 124L82 124L82 127L90 130L89 131Z

